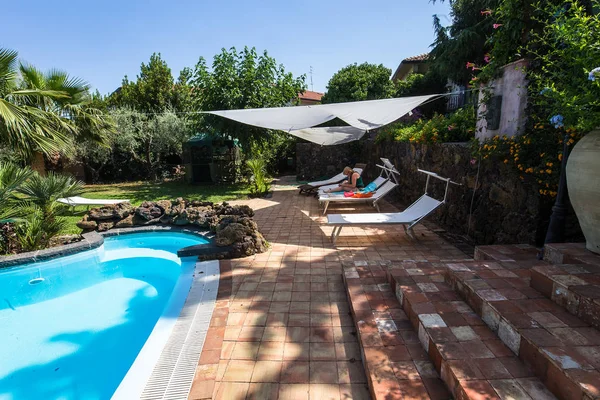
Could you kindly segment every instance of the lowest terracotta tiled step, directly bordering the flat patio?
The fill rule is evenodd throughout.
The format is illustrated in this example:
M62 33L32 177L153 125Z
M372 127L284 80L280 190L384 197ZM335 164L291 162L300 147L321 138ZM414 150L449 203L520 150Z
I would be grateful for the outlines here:
M446 386L391 291L385 265L356 264L344 263L344 283L372 398L448 399Z

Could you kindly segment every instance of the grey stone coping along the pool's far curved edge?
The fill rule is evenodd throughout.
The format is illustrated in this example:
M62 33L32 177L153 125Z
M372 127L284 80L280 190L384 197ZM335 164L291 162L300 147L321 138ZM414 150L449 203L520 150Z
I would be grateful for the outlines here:
M79 242L70 243L62 246L51 247L44 250L28 251L25 253L13 254L9 256L0 256L0 269L17 267L24 264L32 264L40 261L47 261L53 258L68 256L82 251L95 249L102 246L105 237L127 235L140 232L180 232L197 236L202 236L208 241L207 250L214 249L215 252L222 252L223 248L215 244L215 235L209 230L196 228L194 226L171 226L171 225L148 225L131 228L111 229L105 232L87 232L82 234L83 239Z

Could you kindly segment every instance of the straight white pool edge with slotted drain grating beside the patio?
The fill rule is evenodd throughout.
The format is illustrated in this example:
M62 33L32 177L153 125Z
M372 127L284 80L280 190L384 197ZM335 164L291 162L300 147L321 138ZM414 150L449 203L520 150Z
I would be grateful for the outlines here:
M215 307L219 262L196 262L191 286L184 281L178 281L179 287L173 293L177 297L187 294L179 317L166 317L178 303L172 299L113 394L113 400L187 399Z

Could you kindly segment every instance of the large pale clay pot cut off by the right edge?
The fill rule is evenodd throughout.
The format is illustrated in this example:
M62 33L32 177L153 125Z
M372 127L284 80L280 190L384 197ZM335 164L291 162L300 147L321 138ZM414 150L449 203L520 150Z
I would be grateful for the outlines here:
M571 151L567 187L586 247L600 253L600 130L585 135Z

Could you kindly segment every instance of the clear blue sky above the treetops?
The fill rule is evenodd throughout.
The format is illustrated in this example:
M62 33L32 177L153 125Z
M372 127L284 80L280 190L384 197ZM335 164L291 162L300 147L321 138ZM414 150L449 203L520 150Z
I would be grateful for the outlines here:
M428 0L47 0L2 6L0 47L42 69L60 68L101 93L160 52L177 77L200 56L221 48L268 50L294 75L313 67L315 91L324 91L340 68L357 62L396 69L433 41L432 15L448 2ZM443 19L442 19L443 20Z

